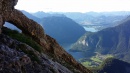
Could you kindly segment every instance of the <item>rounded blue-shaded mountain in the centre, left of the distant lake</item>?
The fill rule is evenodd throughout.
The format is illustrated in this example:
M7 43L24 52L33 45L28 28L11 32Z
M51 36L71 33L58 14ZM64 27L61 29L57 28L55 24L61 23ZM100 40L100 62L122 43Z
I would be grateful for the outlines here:
M55 38L60 44L74 43L85 33L82 26L63 16L43 18L42 24L45 32Z

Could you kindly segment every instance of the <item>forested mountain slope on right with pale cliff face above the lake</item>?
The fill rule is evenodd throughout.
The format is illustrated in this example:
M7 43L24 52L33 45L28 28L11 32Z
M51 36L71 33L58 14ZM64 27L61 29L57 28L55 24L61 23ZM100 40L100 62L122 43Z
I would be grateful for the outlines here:
M120 25L96 33L86 33L71 48L71 51L112 54L130 62L130 17Z

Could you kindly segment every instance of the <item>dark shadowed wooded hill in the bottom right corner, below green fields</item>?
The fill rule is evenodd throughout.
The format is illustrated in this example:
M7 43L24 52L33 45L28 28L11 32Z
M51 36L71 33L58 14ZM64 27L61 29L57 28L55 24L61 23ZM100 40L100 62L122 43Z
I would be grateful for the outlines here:
M118 59L108 58L95 73L130 73L130 64Z

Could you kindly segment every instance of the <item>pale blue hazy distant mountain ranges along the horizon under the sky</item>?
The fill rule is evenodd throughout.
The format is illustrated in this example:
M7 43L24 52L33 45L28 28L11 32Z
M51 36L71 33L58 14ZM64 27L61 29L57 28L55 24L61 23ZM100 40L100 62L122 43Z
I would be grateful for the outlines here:
M117 12L43 12L39 11L32 13L32 15L38 18L44 18L49 16L66 16L73 19L78 24L85 27L93 26L97 30L102 30L107 27L113 27L118 25L121 20L130 15L129 11L117 11Z

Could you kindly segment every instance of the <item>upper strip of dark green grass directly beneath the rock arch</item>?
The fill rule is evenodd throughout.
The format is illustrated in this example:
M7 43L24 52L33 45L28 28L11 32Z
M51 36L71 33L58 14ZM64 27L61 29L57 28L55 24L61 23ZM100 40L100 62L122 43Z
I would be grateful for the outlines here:
M31 46L32 48L34 48L35 50L37 50L38 52L42 52L42 48L39 44L37 44L32 38L30 38L29 36L26 36L22 33L19 33L17 30L11 30L9 28L3 27L2 28L2 33L5 35L10 36L13 39L16 39L20 42L26 43L29 46Z

